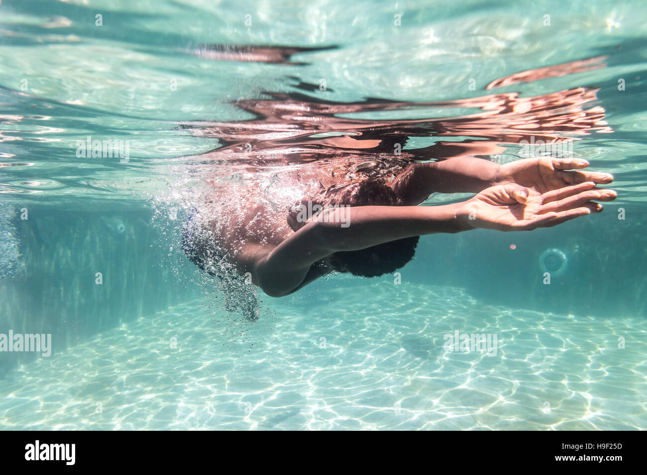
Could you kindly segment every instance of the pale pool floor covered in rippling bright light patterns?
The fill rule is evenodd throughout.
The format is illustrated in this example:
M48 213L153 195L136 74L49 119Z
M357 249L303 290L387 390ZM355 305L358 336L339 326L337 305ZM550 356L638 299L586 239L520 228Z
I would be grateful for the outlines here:
M257 323L195 301L24 364L0 429L647 428L638 317L383 281L264 301ZM455 331L496 334L496 355L446 350Z

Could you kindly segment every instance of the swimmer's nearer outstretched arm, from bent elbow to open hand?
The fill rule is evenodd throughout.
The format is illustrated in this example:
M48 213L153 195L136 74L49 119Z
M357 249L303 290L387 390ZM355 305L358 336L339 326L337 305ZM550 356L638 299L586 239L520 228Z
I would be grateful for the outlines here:
M590 200L609 201L595 183L586 182L543 195L520 185L496 185L463 203L443 206L357 206L325 209L299 231L248 262L252 279L273 297L302 284L312 264L338 251L433 233L457 233L477 227L529 231L556 226L598 211ZM341 215L340 213L347 213ZM347 223L349 226L340 226ZM241 253L241 259L245 258Z

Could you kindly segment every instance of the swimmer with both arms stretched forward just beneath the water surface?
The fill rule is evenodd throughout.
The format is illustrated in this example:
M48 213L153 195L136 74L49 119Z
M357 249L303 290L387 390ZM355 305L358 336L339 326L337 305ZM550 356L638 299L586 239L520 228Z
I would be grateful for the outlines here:
M373 162L354 166L351 174L301 171L292 173L294 184L316 186L289 208L274 206L260 185L237 198L235 212L213 197L211 210L219 211L196 213L183 248L214 275L230 268L267 295L283 297L333 271L364 277L392 273L413 257L421 235L477 228L530 231L599 213L597 202L611 201L616 193L597 185L613 177L582 171L587 166L576 158L499 165L460 156L410 164L378 178ZM418 206L436 192L476 195L455 204ZM304 215L307 209L318 213Z

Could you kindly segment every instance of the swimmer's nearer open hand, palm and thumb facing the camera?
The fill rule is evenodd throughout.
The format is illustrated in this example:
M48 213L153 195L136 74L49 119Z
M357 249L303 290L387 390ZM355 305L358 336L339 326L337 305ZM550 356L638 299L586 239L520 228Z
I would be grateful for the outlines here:
M495 185L459 206L456 216L468 229L531 231L556 226L602 211L602 205L591 200L615 200L615 191L593 188L595 183L585 182L540 194L520 185Z

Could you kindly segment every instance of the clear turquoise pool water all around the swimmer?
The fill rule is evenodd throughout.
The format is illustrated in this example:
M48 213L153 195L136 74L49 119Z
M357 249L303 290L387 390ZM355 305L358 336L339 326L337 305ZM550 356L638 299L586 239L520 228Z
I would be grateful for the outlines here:
M51 334L52 354L0 353L0 428L646 428L646 14L3 0L0 333ZM531 233L422 237L399 280L261 293L257 322L227 311L179 246L206 180L289 199L284 171L371 128L415 160L566 138L619 197ZM122 154L79 156L88 136ZM547 285L549 249L567 265Z

